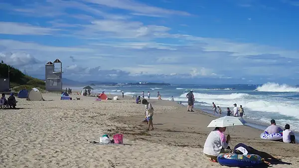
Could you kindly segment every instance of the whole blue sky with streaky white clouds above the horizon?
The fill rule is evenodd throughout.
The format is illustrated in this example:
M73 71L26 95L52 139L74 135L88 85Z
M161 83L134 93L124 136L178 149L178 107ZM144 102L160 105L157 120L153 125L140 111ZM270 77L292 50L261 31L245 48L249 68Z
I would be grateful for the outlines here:
M0 57L76 81L298 84L299 0L1 0Z

